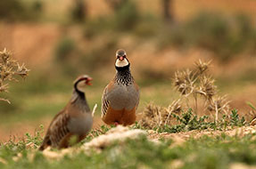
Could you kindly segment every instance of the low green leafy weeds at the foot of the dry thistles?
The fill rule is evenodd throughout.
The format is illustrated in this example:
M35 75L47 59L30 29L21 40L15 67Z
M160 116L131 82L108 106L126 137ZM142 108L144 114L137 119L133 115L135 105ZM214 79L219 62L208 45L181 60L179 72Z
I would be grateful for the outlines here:
M152 111L161 112L160 109ZM145 114L146 113L149 112L145 112ZM187 109L186 112L181 112L179 114L172 112L170 114L169 121L175 119L176 123L172 122L167 123L167 125L151 125L150 123L154 122L153 118L156 117L145 117L145 120L136 123L136 125L134 125L134 128L154 130L158 133L180 133L189 132L193 130L227 131L230 128L249 125L244 117L239 116L237 109L231 110L229 115L223 115L218 121L209 120L209 117L205 115L202 117L197 116L194 114L193 109Z

